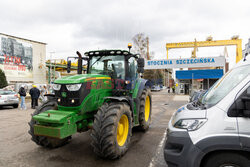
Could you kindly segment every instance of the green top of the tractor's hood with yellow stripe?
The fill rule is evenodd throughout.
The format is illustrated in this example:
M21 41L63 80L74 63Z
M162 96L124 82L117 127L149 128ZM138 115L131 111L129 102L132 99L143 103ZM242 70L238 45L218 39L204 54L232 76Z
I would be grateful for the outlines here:
M86 82L87 80L95 79L111 79L108 75L101 74L78 74L73 76L66 76L55 80L56 84L78 84Z

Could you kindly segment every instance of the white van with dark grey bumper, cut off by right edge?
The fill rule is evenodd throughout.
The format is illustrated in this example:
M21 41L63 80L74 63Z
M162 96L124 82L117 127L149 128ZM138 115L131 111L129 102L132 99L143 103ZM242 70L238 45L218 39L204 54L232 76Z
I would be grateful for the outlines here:
M250 56L172 116L168 167L250 167Z

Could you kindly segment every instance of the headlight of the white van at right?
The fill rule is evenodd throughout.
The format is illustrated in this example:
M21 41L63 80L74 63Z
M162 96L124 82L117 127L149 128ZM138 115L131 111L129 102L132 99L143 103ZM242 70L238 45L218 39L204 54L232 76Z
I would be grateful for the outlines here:
M174 124L174 127L193 131L199 129L206 122L207 119L180 119Z

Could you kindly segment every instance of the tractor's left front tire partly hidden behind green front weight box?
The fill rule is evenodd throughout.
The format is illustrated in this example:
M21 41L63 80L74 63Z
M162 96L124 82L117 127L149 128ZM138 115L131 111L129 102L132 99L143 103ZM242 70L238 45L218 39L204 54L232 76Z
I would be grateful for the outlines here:
M36 109L36 111L32 114L32 116L38 115L47 110L56 110L56 109L57 109L56 101L47 101L43 103L41 106L39 106ZM57 148L62 145L65 145L71 139L71 136L65 139L55 139L55 138L50 138L50 137L45 137L45 136L37 136L34 134L34 125L36 123L37 121L31 118L31 121L29 122L30 130L28 132L31 135L31 140L34 141L37 145L47 147L47 148Z

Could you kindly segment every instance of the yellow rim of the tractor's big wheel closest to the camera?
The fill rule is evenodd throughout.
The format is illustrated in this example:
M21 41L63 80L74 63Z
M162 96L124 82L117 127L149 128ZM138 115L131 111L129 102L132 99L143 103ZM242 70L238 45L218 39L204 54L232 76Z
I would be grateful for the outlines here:
M117 143L123 146L128 138L129 122L127 115L123 114L118 122L117 127Z

